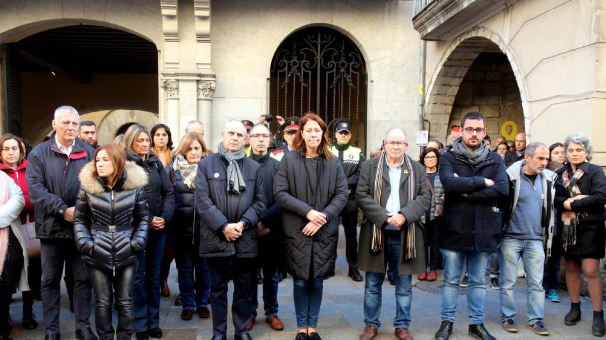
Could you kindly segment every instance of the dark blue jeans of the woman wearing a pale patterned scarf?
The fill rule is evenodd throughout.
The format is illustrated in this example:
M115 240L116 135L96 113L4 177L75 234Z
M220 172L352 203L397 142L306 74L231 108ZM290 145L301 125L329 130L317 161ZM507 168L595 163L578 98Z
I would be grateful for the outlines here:
M206 258L199 255L199 237L191 241L191 237L173 237L183 310L207 307L210 294L210 270Z

